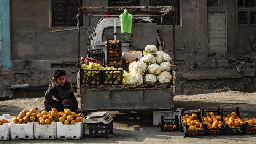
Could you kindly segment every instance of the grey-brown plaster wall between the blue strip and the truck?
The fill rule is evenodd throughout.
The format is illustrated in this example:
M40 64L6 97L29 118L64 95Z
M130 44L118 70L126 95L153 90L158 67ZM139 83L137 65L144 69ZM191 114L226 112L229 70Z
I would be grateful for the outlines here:
M77 62L77 30L50 32L70 27L49 28L49 0L11 0L11 60L21 70L25 60L38 70L50 63ZM73 27L75 28L75 27ZM85 54L86 29L81 30L81 55Z

